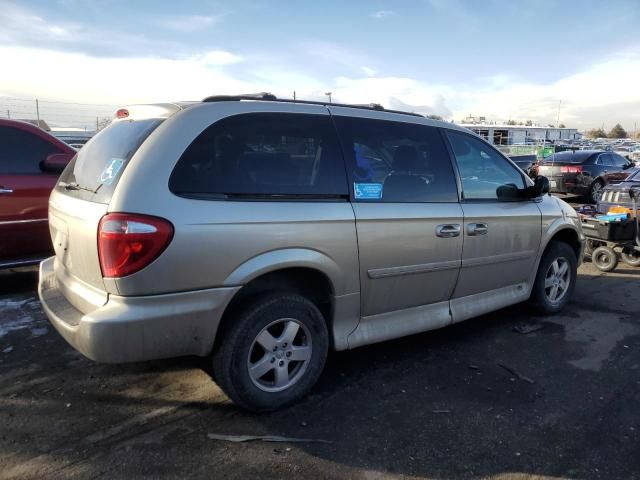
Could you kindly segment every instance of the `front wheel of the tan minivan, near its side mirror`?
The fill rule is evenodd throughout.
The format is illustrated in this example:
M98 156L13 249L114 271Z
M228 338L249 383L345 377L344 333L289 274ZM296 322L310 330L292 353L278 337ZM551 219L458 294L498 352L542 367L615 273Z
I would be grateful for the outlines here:
M543 314L559 312L569 303L577 276L573 249L564 242L551 242L540 260L531 304Z

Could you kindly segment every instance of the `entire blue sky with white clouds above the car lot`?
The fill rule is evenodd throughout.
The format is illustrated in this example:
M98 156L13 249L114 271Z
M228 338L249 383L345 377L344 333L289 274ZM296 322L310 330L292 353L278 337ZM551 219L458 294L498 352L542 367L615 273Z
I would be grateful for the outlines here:
M295 91L633 130L639 32L640 0L0 0L0 116Z

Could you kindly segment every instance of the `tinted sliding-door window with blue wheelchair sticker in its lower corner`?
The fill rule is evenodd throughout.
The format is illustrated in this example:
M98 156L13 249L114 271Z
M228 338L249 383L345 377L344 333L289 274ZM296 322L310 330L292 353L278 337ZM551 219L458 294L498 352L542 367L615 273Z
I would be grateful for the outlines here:
M451 158L435 127L334 117L356 202L457 202Z

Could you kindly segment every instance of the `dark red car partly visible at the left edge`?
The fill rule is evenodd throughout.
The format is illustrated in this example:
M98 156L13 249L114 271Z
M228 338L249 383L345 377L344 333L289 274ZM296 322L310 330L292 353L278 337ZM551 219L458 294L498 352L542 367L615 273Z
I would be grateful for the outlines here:
M0 268L53 253L49 195L75 150L27 122L0 119Z

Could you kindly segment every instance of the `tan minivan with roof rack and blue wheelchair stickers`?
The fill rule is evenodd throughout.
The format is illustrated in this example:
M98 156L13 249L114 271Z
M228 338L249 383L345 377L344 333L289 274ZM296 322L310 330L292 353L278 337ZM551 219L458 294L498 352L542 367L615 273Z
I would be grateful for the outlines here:
M571 296L575 210L456 125L272 95L117 117L52 193L40 266L44 311L91 359L209 356L231 399L272 410L330 348Z

